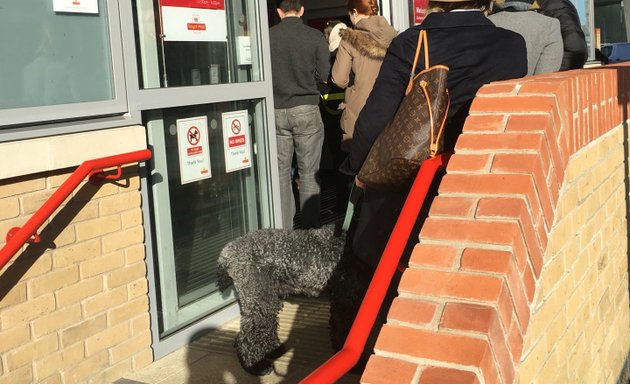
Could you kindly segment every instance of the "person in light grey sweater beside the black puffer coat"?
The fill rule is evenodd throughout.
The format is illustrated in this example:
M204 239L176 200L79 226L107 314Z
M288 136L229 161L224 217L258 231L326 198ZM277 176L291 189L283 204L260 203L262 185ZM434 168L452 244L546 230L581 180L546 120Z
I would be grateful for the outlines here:
M527 75L557 72L562 64L563 43L558 19L531 10L533 0L506 0L488 16L497 27L523 36L527 46Z

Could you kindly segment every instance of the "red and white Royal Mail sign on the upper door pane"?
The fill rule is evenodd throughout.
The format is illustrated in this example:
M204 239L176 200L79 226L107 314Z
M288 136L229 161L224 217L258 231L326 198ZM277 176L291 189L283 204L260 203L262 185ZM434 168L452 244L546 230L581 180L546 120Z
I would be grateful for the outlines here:
M161 0L166 41L227 41L225 0Z

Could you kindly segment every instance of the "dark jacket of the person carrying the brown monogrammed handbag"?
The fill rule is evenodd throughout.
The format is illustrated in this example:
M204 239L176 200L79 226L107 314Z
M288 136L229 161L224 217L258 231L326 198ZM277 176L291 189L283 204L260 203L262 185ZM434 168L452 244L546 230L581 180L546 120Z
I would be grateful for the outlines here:
M374 88L355 126L352 148L340 171L359 172L374 140L394 116L402 100L413 63L420 29L427 30L430 65L449 67L451 107L445 127L445 148L455 145L470 104L482 85L527 74L525 40L496 27L481 12L429 14L422 24L392 41ZM416 73L424 69L422 57Z

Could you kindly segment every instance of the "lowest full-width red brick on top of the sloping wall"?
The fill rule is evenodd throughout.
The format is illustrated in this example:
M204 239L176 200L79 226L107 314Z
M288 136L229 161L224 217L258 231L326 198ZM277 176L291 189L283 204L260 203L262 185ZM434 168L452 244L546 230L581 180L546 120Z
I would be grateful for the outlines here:
M485 340L385 324L375 350L466 366L479 366L489 350Z

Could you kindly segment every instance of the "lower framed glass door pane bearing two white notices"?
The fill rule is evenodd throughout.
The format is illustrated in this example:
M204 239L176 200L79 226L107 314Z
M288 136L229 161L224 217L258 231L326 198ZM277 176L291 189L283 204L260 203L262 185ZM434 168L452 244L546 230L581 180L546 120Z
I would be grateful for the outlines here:
M235 302L231 291L218 288L219 252L230 240L270 223L263 187L268 180L258 160L263 107L261 100L242 100L147 114L162 336ZM237 121L242 135L232 132ZM191 180L187 168L195 156L182 151L190 127L201 131L202 142L189 148L208 154L208 172L199 180ZM244 157L230 150L230 139L239 136L249 147Z

